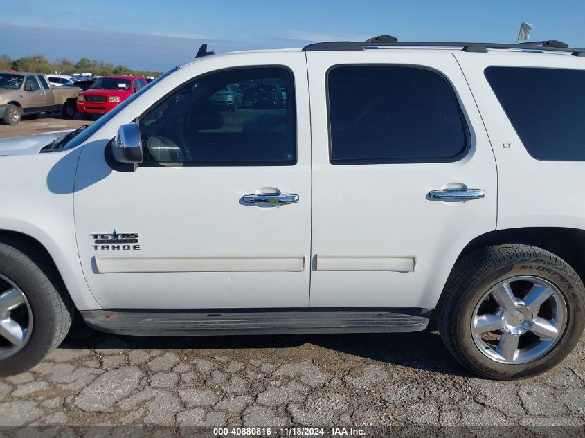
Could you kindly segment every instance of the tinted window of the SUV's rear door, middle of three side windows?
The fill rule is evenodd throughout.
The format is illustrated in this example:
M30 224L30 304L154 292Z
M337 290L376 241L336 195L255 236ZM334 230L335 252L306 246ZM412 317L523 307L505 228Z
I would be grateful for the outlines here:
M327 77L333 164L455 161L467 131L444 78L406 66L342 66Z

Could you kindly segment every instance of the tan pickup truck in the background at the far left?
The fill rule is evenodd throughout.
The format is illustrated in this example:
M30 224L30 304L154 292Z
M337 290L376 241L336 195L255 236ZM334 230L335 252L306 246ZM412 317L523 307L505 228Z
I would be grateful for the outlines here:
M42 73L0 73L0 120L16 125L23 115L55 111L71 119L80 91L77 87L51 88Z

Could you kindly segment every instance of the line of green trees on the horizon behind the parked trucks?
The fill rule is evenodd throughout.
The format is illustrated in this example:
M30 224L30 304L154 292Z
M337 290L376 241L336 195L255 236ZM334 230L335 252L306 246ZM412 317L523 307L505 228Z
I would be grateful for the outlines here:
M91 73L94 76L107 75L137 75L137 76L158 76L160 71L141 71L130 69L127 66L114 66L110 62L90 60L81 58L73 63L66 58L60 58L51 62L42 55L25 56L13 60L8 55L0 56L0 71L31 71L34 73L60 73L71 75L73 73Z

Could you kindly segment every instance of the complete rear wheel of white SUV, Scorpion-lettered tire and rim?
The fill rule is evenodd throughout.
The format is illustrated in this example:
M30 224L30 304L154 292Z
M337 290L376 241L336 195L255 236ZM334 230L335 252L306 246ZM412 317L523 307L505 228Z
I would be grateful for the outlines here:
M546 250L488 246L454 266L438 304L438 329L471 372L494 379L533 376L577 344L584 289L573 268Z

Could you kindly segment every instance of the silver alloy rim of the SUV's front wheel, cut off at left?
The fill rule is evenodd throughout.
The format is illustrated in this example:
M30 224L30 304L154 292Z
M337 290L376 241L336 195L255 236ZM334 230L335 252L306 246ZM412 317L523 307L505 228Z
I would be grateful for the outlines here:
M0 275L0 361L19 352L33 331L33 312L19 287Z

